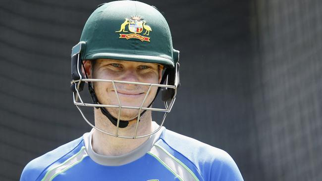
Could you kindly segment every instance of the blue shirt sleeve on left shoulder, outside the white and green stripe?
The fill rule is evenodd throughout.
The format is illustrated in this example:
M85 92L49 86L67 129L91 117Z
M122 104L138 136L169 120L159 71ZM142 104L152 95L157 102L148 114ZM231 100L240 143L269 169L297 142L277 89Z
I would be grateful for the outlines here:
M20 181L37 181L53 164L61 163L75 154L83 145L83 137L79 137L56 149L30 161L22 171Z

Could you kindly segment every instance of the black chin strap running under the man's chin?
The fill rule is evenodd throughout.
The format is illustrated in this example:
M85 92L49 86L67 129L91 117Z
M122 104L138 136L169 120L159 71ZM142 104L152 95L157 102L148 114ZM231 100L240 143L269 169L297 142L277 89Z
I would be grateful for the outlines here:
M84 64L83 64L83 62L82 62L82 65L83 65L83 68L84 68L84 71L85 71L85 76L86 76L86 78L88 79L88 77L87 77L87 73L86 73L86 70L85 70L85 67L84 67ZM164 72L164 74L163 74L163 76L162 76L162 79L161 79L161 83L160 84L163 84L163 82L164 82L164 80L165 80L165 78L166 78L166 76L167 76L167 74L168 74L168 71L167 70L165 70L165 72ZM93 100L93 103L94 104L99 104L99 101L98 101L98 98L97 98L97 96L96 96L96 94L95 94L95 91L94 91L94 88L93 88L93 86L92 86L92 83L91 82L88 82L88 90L89 90L89 92L90 92L90 95L91 95L91 98L92 98L92 100ZM156 93L156 96L154 97L154 99L151 101L151 103L149 104L149 106L148 107L150 107L151 105L152 105L152 103L155 101L155 99L157 98L157 95L158 95L158 93L159 93L159 91L160 91L160 87L158 87L158 90L157 90L157 93ZM107 109L105 109L104 107L95 107L96 109L101 109L101 112L102 112L102 114L104 114L106 117L107 117L107 119L114 125L114 126L117 126L117 118L115 118L114 116L112 116L108 111L107 111ZM140 117L142 117L142 115L146 112L147 110L144 110L141 114L140 114ZM134 118L134 119L138 119L138 116L136 117L136 118ZM133 119L133 120L134 120ZM119 125L118 125L118 127L119 128L126 128L127 126L128 126L128 124L129 124L129 121L131 121L131 120L128 120L128 121L126 121L126 120L119 120ZM141 120L139 120L139 121L141 121Z

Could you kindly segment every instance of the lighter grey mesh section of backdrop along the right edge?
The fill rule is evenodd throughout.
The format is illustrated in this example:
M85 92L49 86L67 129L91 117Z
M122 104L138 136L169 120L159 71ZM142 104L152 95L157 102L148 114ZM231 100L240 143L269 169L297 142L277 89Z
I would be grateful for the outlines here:
M254 121L267 181L320 181L322 2L259 0Z

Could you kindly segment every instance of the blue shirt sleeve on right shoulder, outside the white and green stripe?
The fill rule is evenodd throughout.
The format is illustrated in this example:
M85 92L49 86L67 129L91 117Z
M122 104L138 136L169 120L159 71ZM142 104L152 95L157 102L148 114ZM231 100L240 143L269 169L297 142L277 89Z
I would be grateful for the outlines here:
M214 146L188 136L164 130L158 143L179 159L202 180L243 181L240 171L231 156Z

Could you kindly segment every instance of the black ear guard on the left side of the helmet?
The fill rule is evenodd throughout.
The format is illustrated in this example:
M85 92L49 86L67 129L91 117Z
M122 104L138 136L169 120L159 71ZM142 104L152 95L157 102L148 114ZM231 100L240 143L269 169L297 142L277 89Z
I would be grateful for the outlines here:
M82 58L80 56L80 52L83 48L82 46L84 45L85 45L85 42L80 42L72 48L72 52L71 52L71 79L72 80L85 79L85 76L83 75L83 72L82 72ZM83 81L72 84L70 86L70 89L74 92L76 91L76 89L78 91L82 91L84 88L84 84L85 82Z

